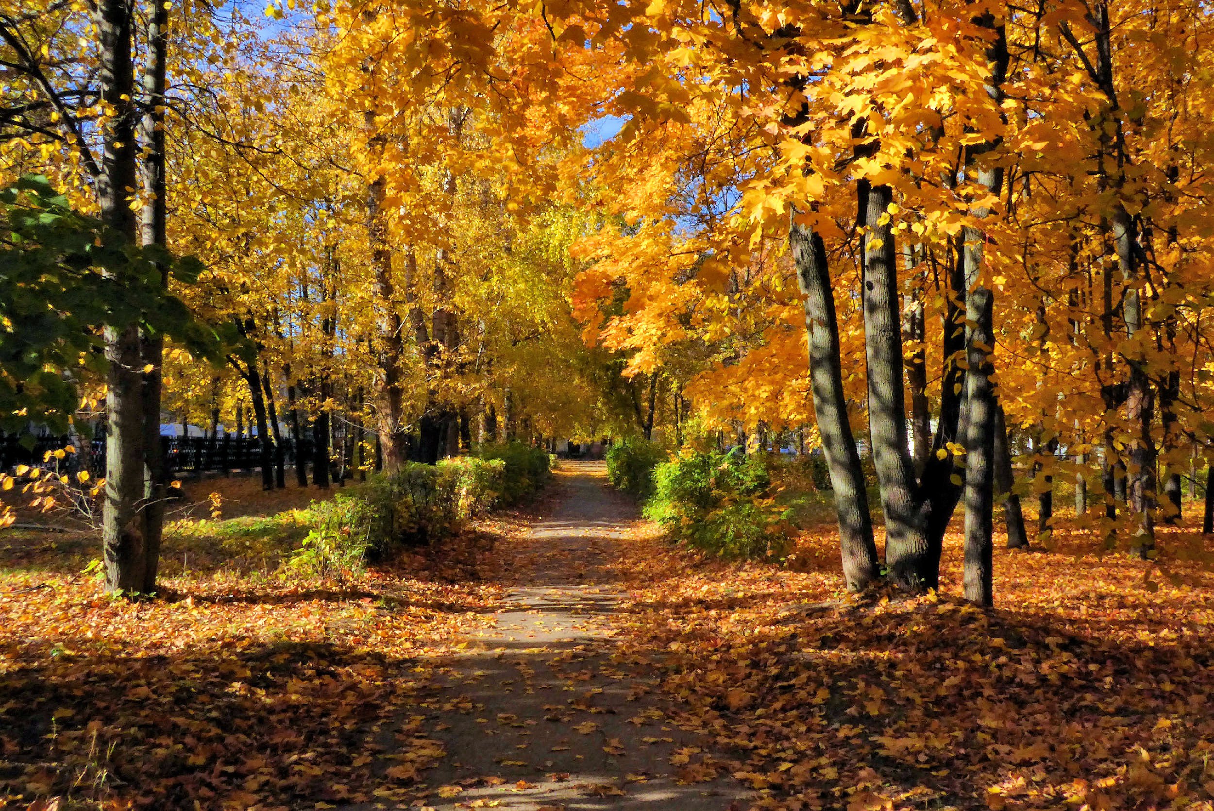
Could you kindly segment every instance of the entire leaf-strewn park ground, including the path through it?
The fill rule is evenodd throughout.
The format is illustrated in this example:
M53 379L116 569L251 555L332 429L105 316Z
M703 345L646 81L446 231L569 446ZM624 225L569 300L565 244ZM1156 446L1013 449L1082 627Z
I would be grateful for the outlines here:
M103 596L95 538L0 533L0 807L1214 807L1192 533L1170 580L998 550L993 611L949 596L951 537L941 595L857 599L828 522L798 571L707 560L565 463L528 510L318 582L282 569L314 490L221 486L238 517L176 528L166 600Z

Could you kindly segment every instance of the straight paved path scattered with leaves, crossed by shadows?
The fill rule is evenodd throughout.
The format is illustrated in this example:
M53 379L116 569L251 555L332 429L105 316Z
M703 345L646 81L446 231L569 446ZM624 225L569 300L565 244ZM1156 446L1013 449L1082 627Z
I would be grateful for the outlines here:
M679 764L704 744L670 722L652 671L613 642L625 595L611 563L636 507L605 473L601 463L562 463L549 515L499 550L509 603L444 663L432 707L447 756L422 776L427 806L749 805L730 777L680 779Z

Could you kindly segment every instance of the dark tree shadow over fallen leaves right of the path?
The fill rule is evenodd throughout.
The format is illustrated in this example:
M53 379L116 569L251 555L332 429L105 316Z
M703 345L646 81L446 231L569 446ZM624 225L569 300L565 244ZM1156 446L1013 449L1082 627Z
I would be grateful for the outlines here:
M1196 634L1127 643L940 600L772 620L748 639L700 624L642 650L660 646L676 648L663 668L685 720L802 807L846 805L852 789L964 809L1157 807L1214 792L1214 654Z

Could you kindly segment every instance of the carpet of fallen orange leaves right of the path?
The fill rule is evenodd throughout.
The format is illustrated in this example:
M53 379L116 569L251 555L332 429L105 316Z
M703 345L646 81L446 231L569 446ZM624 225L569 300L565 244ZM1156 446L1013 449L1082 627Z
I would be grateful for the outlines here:
M1173 533L1167 545L1192 537ZM733 753L760 809L1214 807L1214 579L1076 550L995 556L997 608L840 592L838 541L789 572L641 537L619 562L628 647L680 724ZM1156 575L1158 577L1158 575ZM1156 589L1156 590L1148 590Z

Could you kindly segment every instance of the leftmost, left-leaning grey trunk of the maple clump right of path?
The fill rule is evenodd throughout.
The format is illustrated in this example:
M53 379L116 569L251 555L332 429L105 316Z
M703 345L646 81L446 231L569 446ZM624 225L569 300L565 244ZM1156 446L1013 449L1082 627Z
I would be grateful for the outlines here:
M843 575L849 591L860 591L880 573L864 472L847 419L847 396L839 358L839 322L822 237L796 222L789 226L796 277L805 294L805 330L810 353L810 390L822 450L830 471Z

